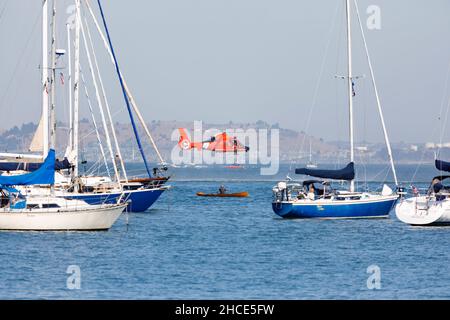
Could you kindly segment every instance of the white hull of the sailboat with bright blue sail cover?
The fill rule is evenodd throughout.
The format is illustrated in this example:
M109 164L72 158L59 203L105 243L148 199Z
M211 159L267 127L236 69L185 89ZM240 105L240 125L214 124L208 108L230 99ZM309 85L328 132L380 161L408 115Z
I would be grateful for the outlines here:
M0 211L0 230L95 231L108 230L126 204L79 210Z

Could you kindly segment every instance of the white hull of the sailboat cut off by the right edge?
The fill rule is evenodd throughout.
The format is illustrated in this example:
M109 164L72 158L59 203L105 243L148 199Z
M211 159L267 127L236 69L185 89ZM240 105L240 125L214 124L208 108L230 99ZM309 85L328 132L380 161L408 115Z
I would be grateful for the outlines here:
M419 196L400 200L395 207L397 218L416 226L450 224L450 199L437 201Z

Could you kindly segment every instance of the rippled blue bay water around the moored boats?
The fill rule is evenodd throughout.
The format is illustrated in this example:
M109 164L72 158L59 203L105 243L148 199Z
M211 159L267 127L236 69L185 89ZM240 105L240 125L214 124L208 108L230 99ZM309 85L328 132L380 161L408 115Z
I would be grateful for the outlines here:
M270 206L273 177L256 171L177 169L149 212L129 214L128 226L123 215L107 232L0 232L0 298L450 298L450 228L395 217L282 220ZM403 166L401 178L414 171ZM420 185L434 173L423 169ZM195 196L217 180L250 197ZM373 264L380 290L366 285ZM67 288L69 265L81 269L79 290Z

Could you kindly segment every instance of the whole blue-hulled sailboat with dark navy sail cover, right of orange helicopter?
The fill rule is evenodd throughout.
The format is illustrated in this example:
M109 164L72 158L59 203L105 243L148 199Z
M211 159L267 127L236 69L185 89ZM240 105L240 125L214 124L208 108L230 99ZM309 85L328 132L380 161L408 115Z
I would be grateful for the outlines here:
M281 181L273 188L273 211L283 218L386 218L397 202L398 195L387 185L383 186L381 193L358 192L355 190L354 168L354 134L353 134L353 97L354 79L352 70L352 42L351 42L351 7L350 0L346 1L347 14L347 53L348 75L342 77L347 80L348 106L350 118L350 163L340 170L318 170L311 168L296 169L296 174L307 175L320 180L306 180L301 183ZM372 78L378 112L383 127L389 161L392 168L395 184L398 185L395 172L392 150L384 123L383 112L370 61L367 43L364 36L359 11L356 6L361 35L365 46L366 57ZM329 180L348 181L349 190L335 190Z

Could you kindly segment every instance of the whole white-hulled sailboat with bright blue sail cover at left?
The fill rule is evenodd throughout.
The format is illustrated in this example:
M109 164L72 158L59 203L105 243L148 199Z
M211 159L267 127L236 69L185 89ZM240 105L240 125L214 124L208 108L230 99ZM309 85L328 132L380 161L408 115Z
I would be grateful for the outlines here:
M46 33L48 4L43 2L44 31ZM118 219L127 204L122 197L114 204L89 205L85 201L67 200L55 196L55 71L56 71L56 6L53 2L52 13L52 64L50 78L50 112L44 112L50 118L50 149L45 161L31 172L19 175L0 176L0 230L107 230ZM46 36L44 36L46 42ZM46 45L44 46L47 53ZM47 69L43 65L43 69ZM46 81L46 80L45 80ZM48 100L44 99L44 103ZM44 104L45 106L45 104ZM44 110L48 111L47 108ZM48 127L43 126L43 135ZM44 145L46 145L44 143ZM48 145L47 145L48 146ZM23 195L15 186L47 185L48 195Z

